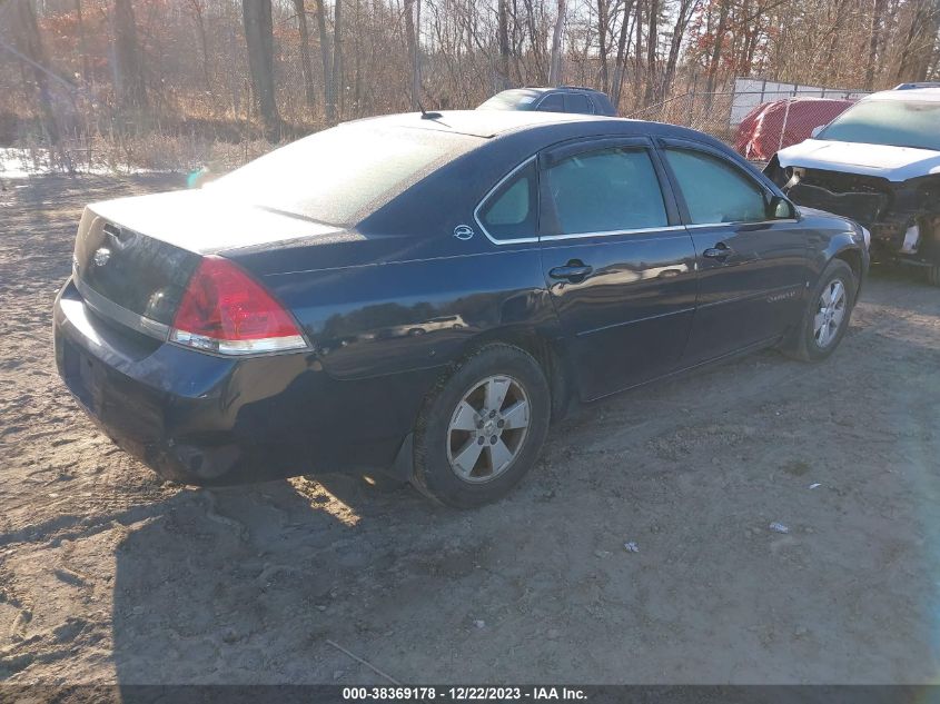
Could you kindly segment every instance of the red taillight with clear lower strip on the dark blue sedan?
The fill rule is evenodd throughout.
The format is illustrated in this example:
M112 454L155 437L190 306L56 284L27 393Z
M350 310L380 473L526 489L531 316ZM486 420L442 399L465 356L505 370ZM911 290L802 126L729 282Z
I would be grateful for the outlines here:
M206 257L189 279L170 340L222 355L306 347L289 313L248 274Z

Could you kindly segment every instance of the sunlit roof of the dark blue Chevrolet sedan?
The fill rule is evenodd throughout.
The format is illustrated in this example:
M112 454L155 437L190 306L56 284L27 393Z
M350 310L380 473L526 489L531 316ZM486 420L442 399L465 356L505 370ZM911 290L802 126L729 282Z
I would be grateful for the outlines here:
M379 128L426 129L488 139L531 127L620 119L600 115L537 112L530 110L445 110L441 112L428 112L428 115L437 115L439 117L423 119L420 112L405 112L402 115L366 118L366 120ZM355 120L353 123L364 122L366 120Z

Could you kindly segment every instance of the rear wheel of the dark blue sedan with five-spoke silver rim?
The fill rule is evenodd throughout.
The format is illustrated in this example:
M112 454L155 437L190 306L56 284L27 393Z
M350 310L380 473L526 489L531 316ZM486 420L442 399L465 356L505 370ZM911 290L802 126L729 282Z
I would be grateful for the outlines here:
M532 355L511 345L486 345L442 378L425 400L415 427L412 484L456 508L494 502L535 464L551 415L548 383Z

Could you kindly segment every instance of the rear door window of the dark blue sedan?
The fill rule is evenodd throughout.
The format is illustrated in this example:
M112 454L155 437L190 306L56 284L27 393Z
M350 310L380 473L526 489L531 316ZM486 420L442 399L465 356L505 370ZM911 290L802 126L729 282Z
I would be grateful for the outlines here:
M562 235L669 225L660 181L645 149L578 153L551 167L547 178Z

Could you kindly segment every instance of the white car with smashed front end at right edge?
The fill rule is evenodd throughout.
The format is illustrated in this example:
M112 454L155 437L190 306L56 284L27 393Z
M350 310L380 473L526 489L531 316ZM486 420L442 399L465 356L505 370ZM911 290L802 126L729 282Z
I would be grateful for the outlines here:
M924 267L940 286L940 87L868 96L764 172L795 202L865 227L873 259Z

